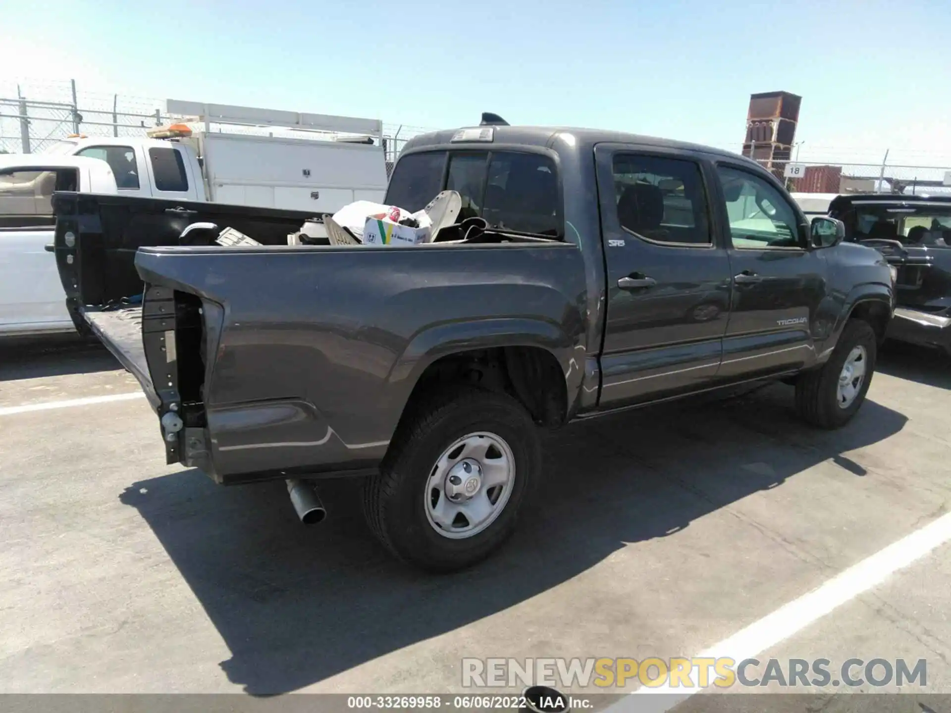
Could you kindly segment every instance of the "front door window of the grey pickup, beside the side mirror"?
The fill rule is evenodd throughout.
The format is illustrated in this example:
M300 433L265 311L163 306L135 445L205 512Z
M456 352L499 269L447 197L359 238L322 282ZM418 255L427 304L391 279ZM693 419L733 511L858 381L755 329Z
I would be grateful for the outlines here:
M789 202L765 179L729 166L717 173L727 201L733 247L803 247Z

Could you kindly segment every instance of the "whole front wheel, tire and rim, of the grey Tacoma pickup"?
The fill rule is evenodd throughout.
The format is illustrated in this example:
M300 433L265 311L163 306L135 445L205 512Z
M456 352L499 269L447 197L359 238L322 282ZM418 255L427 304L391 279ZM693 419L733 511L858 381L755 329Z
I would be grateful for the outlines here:
M836 429L859 411L875 372L878 340L868 322L849 319L825 365L799 377L796 406L813 426Z

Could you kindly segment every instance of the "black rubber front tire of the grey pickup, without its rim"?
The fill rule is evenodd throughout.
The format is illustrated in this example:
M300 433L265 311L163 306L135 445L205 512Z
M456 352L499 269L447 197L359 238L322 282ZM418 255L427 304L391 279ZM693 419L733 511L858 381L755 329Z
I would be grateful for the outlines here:
M838 403L839 376L845 359L856 346L865 348L865 377L859 394L847 408ZM875 374L878 356L878 338L868 322L849 319L845 323L839 343L821 369L806 372L796 382L796 408L807 423L823 429L844 426L859 411Z

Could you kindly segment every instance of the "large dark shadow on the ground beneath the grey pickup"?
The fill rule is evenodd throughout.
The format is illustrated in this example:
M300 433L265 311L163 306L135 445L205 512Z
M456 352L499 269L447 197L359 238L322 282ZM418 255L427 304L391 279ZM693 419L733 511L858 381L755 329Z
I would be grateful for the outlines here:
M394 562L365 528L359 482L327 483L330 516L300 525L283 483L222 489L185 471L121 495L154 530L231 651L229 681L254 695L318 683L512 607L628 543L689 527L819 462L902 430L868 401L838 432L770 386L579 424L545 447L544 487L513 541L482 565L429 576Z

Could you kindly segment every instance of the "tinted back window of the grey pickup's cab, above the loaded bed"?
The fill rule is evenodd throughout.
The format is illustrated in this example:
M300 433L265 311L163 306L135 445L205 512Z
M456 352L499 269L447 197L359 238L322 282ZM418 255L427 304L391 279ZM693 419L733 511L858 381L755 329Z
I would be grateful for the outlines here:
M413 153L394 168L386 202L415 212L439 191L455 190L462 198L460 220L477 216L500 230L560 238L556 170L550 157L537 153Z

